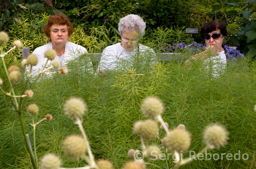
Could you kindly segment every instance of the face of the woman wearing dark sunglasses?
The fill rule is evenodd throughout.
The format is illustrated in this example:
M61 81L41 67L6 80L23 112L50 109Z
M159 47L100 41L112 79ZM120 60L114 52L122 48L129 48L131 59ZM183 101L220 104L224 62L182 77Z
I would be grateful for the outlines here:
M212 36L214 34L220 34L221 33L221 30L217 29L216 31L212 31L210 33L208 33L209 36ZM215 36L214 36L215 37ZM214 39L212 37L210 37L210 39L204 39L205 40L205 44L206 46L216 46L218 51L222 51L223 48L222 48L222 42L223 42L223 39L224 39L224 36L220 34L220 37L217 38L217 39Z

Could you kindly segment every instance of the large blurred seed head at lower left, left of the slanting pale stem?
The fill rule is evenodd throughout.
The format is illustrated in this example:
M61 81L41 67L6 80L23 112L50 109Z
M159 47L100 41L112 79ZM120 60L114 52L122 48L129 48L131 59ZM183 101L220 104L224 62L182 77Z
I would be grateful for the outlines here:
M62 147L64 153L75 160L79 160L87 151L86 142L78 135L67 136Z

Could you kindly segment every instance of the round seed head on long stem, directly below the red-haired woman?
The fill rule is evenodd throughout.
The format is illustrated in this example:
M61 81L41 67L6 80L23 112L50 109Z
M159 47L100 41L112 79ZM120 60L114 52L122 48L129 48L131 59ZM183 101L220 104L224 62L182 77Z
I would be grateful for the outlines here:
M70 98L64 104L64 112L70 118L81 118L87 111L87 105L80 98Z

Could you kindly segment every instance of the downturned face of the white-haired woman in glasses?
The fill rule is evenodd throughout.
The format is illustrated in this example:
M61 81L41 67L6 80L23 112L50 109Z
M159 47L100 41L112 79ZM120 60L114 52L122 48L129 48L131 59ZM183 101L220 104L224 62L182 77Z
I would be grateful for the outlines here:
M136 30L123 30L121 46L126 51L132 51L136 48L139 40L139 35Z

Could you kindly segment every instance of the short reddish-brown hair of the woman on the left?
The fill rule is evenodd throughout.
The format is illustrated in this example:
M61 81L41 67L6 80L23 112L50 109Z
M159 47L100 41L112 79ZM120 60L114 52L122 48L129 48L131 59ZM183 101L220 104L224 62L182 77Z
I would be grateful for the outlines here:
M56 15L51 15L48 19L47 24L45 24L44 26L44 32L48 38L50 38L50 27L53 24L67 25L69 36L73 34L73 25L70 22L69 18L64 14L58 13Z

